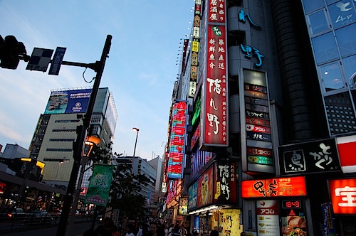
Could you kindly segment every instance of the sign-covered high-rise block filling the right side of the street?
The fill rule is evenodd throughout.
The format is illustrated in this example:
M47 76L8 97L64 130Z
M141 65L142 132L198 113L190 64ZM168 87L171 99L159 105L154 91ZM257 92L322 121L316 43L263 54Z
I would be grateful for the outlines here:
M164 154L170 220L356 234L355 4L195 1Z

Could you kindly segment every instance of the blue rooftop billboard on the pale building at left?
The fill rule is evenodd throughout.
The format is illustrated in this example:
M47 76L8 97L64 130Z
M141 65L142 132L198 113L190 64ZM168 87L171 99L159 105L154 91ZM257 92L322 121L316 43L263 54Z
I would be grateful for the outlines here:
M53 91L44 114L85 113L90 95L91 89Z

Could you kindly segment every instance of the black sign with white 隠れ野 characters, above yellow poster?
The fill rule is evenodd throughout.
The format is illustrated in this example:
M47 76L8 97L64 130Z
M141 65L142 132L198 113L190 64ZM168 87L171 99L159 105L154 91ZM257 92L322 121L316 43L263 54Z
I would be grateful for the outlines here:
M215 163L214 203L236 203L236 163Z

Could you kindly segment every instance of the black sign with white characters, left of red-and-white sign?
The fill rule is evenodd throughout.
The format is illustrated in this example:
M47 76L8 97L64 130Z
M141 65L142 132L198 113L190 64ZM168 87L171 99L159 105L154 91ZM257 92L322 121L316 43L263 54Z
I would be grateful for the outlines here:
M335 139L323 139L278 147L281 174L340 171Z

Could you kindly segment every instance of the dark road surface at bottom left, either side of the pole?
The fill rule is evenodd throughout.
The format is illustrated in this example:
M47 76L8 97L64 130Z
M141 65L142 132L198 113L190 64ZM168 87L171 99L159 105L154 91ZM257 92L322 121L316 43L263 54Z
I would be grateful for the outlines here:
M83 233L91 227L91 222L77 223L73 225L73 230L70 236L81 236ZM98 226L98 223L95 224L95 227ZM44 227L38 230L26 230L23 232L12 232L7 234L1 234L2 236L38 236L46 235L52 236L56 235L57 227Z

